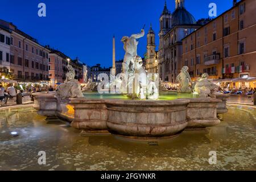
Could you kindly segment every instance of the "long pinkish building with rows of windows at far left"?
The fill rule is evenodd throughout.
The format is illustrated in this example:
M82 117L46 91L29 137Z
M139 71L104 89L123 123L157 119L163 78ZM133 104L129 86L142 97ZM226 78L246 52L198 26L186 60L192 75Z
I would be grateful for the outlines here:
M9 32L1 35L0 49L5 49L2 51L1 67L5 68L2 71L13 75L17 81L48 81L49 49L41 46L38 40L19 30L13 23L0 19L0 27L1 31Z

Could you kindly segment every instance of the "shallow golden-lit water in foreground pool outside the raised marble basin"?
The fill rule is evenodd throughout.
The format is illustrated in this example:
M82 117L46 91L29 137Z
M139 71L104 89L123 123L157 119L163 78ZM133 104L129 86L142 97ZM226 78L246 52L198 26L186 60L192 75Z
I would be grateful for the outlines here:
M0 110L0 170L256 170L256 109L228 109L207 132L184 131L153 145L113 135L81 137L69 123L32 107ZM39 151L46 152L45 166L38 164ZM209 151L217 152L217 165L208 163Z

